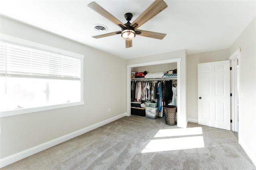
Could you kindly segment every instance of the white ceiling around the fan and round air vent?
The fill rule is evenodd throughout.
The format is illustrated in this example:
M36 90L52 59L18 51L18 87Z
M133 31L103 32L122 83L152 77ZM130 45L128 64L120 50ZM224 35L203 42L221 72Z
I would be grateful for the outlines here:
M1 15L100 49L124 59L186 49L188 54L229 48L256 16L255 0L165 0L168 7L142 25L140 30L167 34L163 40L136 36L126 48L121 35L94 39L92 36L120 31L87 5L92 0L1 0ZM126 23L135 20L153 1L96 0ZM94 30L104 24L108 32Z

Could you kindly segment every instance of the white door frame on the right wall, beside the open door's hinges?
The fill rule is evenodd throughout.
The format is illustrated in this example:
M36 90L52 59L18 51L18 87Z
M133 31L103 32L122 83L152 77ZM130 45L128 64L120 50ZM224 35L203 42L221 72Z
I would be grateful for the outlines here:
M232 67L231 75L230 75L230 90L232 93L231 102L230 102L230 109L231 109L231 119L232 125L231 130L234 132L238 132L239 128L239 114L240 107L238 104L240 103L240 70L237 67L237 60L240 63L240 48L237 49L230 57L230 66ZM238 82L238 83L237 83Z

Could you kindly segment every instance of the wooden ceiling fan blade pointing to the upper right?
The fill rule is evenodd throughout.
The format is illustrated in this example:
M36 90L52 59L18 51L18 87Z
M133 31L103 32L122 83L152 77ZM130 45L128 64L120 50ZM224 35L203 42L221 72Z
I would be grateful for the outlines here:
M136 18L136 20L134 20L130 26L134 27L135 29L139 28L142 26L142 24L153 18L166 7L167 4L163 0L156 0L140 16L138 16L138 18Z

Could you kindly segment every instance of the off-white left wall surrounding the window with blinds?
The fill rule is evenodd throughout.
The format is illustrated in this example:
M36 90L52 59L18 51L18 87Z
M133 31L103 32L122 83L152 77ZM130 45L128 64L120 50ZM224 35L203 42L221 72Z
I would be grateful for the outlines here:
M85 56L85 104L1 118L1 159L126 113L124 59L4 17L1 33Z

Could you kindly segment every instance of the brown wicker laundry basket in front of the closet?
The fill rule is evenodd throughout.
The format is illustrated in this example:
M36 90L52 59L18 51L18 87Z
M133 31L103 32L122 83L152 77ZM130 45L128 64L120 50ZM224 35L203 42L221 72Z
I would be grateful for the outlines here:
M175 115L176 115L176 106L165 105L164 108L164 117L166 125L173 126L175 124Z

